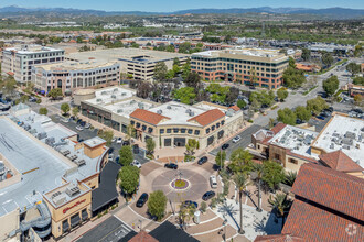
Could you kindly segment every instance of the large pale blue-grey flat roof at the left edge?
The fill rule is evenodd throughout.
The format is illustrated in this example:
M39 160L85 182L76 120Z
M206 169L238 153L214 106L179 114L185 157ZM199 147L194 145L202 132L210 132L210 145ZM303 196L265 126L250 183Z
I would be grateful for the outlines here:
M72 166L50 148L9 119L0 119L0 153L22 174L20 183L0 189L0 216L32 206L33 190L43 194L62 185L61 177Z

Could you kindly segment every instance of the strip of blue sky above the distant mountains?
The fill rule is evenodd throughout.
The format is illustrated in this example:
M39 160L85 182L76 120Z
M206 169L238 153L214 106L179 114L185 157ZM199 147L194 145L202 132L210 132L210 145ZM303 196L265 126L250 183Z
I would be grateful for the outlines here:
M289 2L289 3L288 3ZM19 6L25 8L73 8L106 11L151 11L171 12L201 8L352 8L364 9L363 0L0 0L0 7Z

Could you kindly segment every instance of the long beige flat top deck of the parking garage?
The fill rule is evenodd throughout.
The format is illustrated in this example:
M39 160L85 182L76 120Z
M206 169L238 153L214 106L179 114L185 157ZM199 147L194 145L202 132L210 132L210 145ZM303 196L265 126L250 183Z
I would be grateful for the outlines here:
M168 59L185 58L190 55L170 52L159 52L152 50L142 48L109 48L109 50L97 50L92 52L78 52L72 53L66 56L68 59L75 61L89 61L95 58L103 62L136 62L136 63L153 63Z

